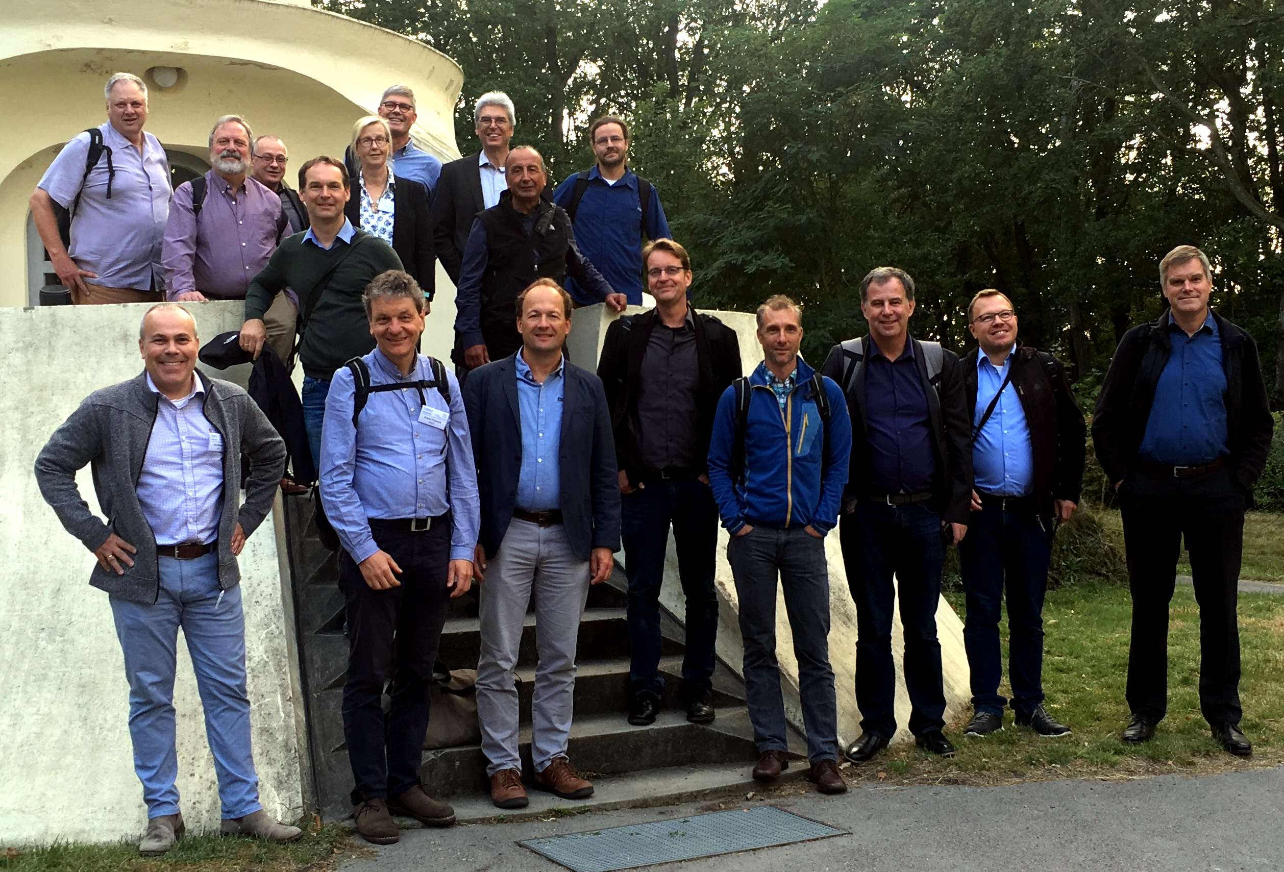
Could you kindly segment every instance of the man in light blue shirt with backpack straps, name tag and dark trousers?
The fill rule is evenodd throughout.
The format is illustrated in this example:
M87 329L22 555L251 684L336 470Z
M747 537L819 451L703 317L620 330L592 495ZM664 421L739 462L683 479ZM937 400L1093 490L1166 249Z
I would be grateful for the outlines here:
M375 351L331 380L320 487L343 546L343 729L353 817L367 841L386 845L398 840L392 814L455 823L455 810L430 799L419 776L433 664L449 600L473 582L480 514L458 381L417 352L422 289L389 270L375 276L362 303ZM389 679L385 726L380 700Z

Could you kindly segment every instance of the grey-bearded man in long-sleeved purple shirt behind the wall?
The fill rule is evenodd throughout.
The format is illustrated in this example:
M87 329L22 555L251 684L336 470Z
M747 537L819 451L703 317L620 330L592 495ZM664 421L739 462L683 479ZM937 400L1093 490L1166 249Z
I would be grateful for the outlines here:
M213 168L175 190L160 254L169 299L245 299L288 230L281 199L249 175L253 141L243 118L223 116L209 132ZM293 339L293 320L268 324L268 343L282 361Z

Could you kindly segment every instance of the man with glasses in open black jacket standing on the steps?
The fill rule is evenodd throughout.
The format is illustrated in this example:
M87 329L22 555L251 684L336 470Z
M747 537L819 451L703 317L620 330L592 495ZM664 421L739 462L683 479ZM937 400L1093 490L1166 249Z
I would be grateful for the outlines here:
M660 584L670 524L687 598L682 700L687 720L710 723L718 638L718 505L705 461L718 399L741 375L740 342L734 330L687 303L687 249L657 239L642 249L642 267L655 308L612 322L597 363L611 408L623 494L633 659L629 723L655 723L664 693Z

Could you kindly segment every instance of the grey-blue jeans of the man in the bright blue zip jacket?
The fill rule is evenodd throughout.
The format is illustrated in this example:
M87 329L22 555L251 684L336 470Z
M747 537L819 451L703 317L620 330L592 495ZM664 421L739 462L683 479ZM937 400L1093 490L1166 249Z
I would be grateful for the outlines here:
M776 579L799 661L799 696L811 763L838 759L838 705L829 667L829 570L824 539L801 527L755 527L733 536L727 560L740 597L745 641L745 695L759 753L788 750L785 697L776 659Z

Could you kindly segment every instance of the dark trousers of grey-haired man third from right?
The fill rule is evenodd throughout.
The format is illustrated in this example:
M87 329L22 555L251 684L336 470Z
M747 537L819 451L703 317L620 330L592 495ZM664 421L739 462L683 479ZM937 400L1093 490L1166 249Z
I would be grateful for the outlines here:
M922 736L945 727L941 643L936 638L945 545L941 516L930 506L927 502L889 506L863 500L854 512L842 516L838 529L847 584L856 602L860 729L885 738L896 733L891 622L898 591L905 636L905 688L913 706L909 731Z

